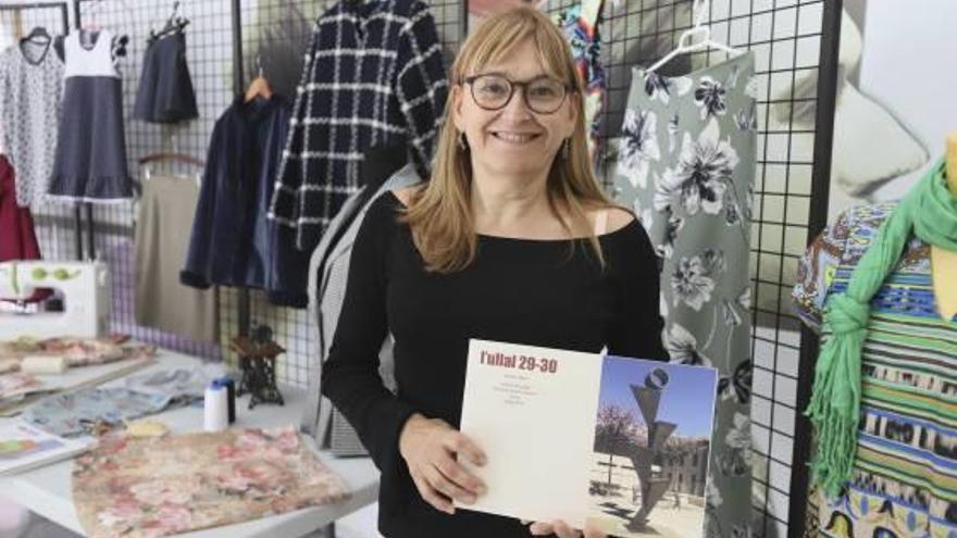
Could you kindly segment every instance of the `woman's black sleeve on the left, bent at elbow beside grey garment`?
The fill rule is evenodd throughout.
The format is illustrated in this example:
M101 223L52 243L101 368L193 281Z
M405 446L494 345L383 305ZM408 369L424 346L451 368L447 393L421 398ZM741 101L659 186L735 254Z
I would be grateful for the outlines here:
M359 228L349 280L330 355L322 368L322 393L356 428L376 466L400 463L399 433L414 412L378 375L378 351L387 335L386 274L396 204L386 195L372 203Z

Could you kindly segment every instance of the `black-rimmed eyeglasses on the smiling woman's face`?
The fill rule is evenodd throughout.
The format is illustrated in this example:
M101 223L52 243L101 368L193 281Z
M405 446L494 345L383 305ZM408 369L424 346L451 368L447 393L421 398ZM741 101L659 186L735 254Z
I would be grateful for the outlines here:
M551 114L561 108L571 88L550 76L543 75L524 83L509 80L502 75L474 75L464 78L472 88L475 104L485 110L501 110L522 88L522 98L532 111L539 114Z

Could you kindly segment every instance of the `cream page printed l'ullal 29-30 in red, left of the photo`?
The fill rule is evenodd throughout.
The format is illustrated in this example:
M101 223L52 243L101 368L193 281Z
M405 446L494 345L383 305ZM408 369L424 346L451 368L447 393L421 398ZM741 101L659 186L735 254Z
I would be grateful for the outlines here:
M600 378L597 353L470 340L461 426L488 461L463 464L488 492L457 506L583 528Z

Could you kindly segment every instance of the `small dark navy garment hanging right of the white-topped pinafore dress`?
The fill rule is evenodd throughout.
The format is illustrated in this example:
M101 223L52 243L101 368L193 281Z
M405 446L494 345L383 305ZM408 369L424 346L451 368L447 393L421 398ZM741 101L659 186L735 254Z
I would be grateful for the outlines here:
M133 117L177 123L199 117L186 64L186 35L176 32L147 42Z

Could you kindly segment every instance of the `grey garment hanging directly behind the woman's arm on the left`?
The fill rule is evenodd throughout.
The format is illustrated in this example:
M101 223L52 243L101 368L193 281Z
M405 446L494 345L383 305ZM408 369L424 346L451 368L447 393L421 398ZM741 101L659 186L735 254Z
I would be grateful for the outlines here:
M346 299L346 283L349 278L349 261L352 243L362 225L365 212L372 202L389 190L401 189L421 182L412 164L407 164L393 174L371 197L363 197L364 189L349 197L323 233L319 246L312 252L309 263L309 318L312 341L316 342L318 354L310 365L309 401L302 414L302 430L313 436L321 449L331 449L337 455L363 455L366 453L359 441L359 436L346 422L345 417L334 410L332 402L322 397L322 364L328 358L333 345L339 312ZM355 215L355 218L352 216ZM348 228L335 245L331 245L336 230L347 225ZM322 274L319 274L320 268ZM395 390L393 362L393 337L389 335L382 342L378 353L378 373L389 390Z

